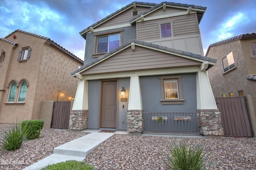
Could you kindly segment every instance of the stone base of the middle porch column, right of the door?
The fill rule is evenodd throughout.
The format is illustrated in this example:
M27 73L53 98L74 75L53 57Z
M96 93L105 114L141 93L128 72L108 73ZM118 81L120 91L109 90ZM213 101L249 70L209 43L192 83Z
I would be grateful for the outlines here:
M144 129L142 110L127 110L127 131L142 133Z

